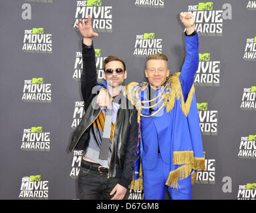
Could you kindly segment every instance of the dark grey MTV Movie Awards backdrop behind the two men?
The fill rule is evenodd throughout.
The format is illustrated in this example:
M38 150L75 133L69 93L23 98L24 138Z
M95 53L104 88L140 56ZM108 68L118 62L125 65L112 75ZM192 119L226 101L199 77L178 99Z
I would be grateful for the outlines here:
M179 13L199 34L195 75L206 170L193 199L256 197L256 1L15 0L0 2L1 199L78 199L82 150L68 152L84 102L78 19L92 17L98 80L108 55L145 81L147 55L180 71L186 50ZM166 199L170 197L166 194ZM144 199L130 191L128 200Z

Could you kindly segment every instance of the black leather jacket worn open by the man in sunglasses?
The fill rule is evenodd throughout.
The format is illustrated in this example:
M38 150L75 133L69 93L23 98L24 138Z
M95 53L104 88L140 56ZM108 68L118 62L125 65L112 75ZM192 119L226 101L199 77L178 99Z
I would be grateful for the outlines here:
M82 44L83 71L81 75L82 95L85 114L72 135L70 152L86 150L90 142L90 126L100 114L101 108L96 104L94 93L97 87L96 59L93 46ZM94 89L93 89L94 88ZM93 91L92 91L93 89ZM96 91L95 91L96 92ZM123 95L120 96L120 108L116 115L116 124L112 141L109 178L120 178L118 182L128 187L134 174L134 160L138 140L137 110Z

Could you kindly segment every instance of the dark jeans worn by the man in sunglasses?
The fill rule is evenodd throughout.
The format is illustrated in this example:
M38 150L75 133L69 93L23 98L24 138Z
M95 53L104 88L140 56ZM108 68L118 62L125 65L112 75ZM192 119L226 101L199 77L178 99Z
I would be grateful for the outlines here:
M82 160L78 175L80 200L110 200L114 196L114 194L110 195L110 192L118 184L118 179L108 178L108 172L100 173L84 168L84 163L100 166L100 164Z

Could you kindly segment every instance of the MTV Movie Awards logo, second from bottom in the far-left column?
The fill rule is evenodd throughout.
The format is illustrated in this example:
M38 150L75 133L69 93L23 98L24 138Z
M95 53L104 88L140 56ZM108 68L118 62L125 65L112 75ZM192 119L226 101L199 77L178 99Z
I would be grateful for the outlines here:
M24 151L49 151L50 132L43 132L42 126L23 129L21 149Z

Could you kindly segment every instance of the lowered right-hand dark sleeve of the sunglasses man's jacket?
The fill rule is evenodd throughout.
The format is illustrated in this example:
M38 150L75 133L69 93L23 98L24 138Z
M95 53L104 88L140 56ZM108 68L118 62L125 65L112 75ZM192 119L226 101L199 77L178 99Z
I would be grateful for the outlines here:
M138 142L138 122L137 110L134 108L132 112L131 126L129 130L128 144L126 146L126 156L124 158L124 167L118 184L128 188L134 174L134 162L136 160L136 147Z

